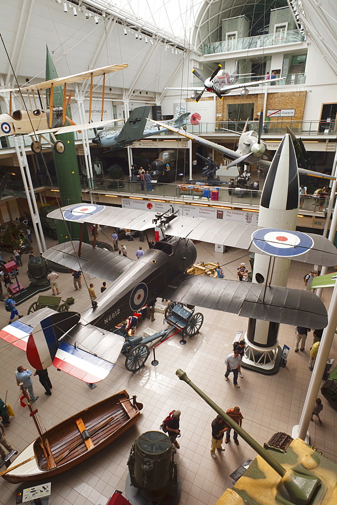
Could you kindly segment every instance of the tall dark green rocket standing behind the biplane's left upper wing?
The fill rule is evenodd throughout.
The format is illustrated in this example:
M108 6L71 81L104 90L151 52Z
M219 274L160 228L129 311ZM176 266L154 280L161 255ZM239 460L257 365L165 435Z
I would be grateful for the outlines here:
M46 80L55 79L58 77L57 71L52 62L50 53L47 47L46 56ZM49 103L49 96L46 96L47 103ZM63 107L63 88L57 86L53 90L53 107ZM67 116L71 118L70 108L67 109ZM66 125L69 124L66 122ZM63 154L58 154L52 149L52 155L55 164L55 171L59 183L59 197L62 207L65 205L79 204L82 201L81 180L78 170L77 155L75 149L74 133L64 133L58 135L59 140L65 144L65 151ZM58 233L59 243L68 242L70 239L78 240L80 236L80 224L71 223L69 221L56 221L56 230ZM83 234L83 241L89 243L87 229L85 228Z

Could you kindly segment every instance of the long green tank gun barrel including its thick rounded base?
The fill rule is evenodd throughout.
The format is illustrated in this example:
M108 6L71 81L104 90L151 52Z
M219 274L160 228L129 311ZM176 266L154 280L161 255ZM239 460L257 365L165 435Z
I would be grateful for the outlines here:
M247 443L254 449L258 455L268 464L270 467L281 477L280 484L283 484L287 489L288 494L291 498L291 503L296 503L296 505L309 505L314 502L314 496L318 486L320 485L320 479L313 473L299 472L297 469L286 470L282 465L280 465L270 453L264 449L254 438L252 438L244 429L241 428L232 418L230 418L226 412L223 412L216 403L211 400L201 389L199 389L191 379L187 377L186 372L178 369L176 375L180 380L183 380L188 384L196 393L201 396L203 400L208 403L208 405L217 413L222 419L233 428ZM287 501L289 503L289 501Z

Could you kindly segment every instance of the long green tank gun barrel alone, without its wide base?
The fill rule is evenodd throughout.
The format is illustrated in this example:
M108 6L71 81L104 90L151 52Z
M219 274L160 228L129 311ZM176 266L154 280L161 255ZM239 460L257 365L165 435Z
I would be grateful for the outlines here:
M235 421L226 412L224 412L220 407L216 405L216 403L211 400L201 389L199 389L192 381L187 377L186 372L183 372L180 368L176 371L176 375L180 380L183 380L188 384L203 400L208 403L208 405L217 413L222 419L233 428L244 440L254 449L258 455L261 456L270 466L278 473L281 477L283 477L286 473L286 469L280 465L271 455L268 453L253 437L251 437L241 426L239 426Z

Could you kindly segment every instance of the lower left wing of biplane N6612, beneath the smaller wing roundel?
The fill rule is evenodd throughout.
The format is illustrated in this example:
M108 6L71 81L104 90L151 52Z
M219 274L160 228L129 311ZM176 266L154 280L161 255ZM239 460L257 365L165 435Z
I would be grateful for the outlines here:
M75 250L74 250L75 248ZM81 256L77 256L78 241L58 244L43 253L43 258L73 270L81 270L108 282L114 282L134 263L116 252L83 243ZM1 336L1 333L0 333Z

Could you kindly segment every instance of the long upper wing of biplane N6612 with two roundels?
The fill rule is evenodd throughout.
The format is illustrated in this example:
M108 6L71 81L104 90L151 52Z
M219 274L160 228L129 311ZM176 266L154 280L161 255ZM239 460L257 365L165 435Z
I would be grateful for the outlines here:
M166 235L201 241L207 236L207 241L210 243L248 249L251 252L267 256L293 259L326 267L337 265L335 246L327 238L313 233L260 228L250 224L232 223L219 219L174 216L173 214L173 219L170 220L170 212L167 213L167 224L162 222L154 224L155 215L151 212L96 204L68 205L50 212L48 217L139 231L157 226L161 227ZM165 221L165 216L163 221Z

